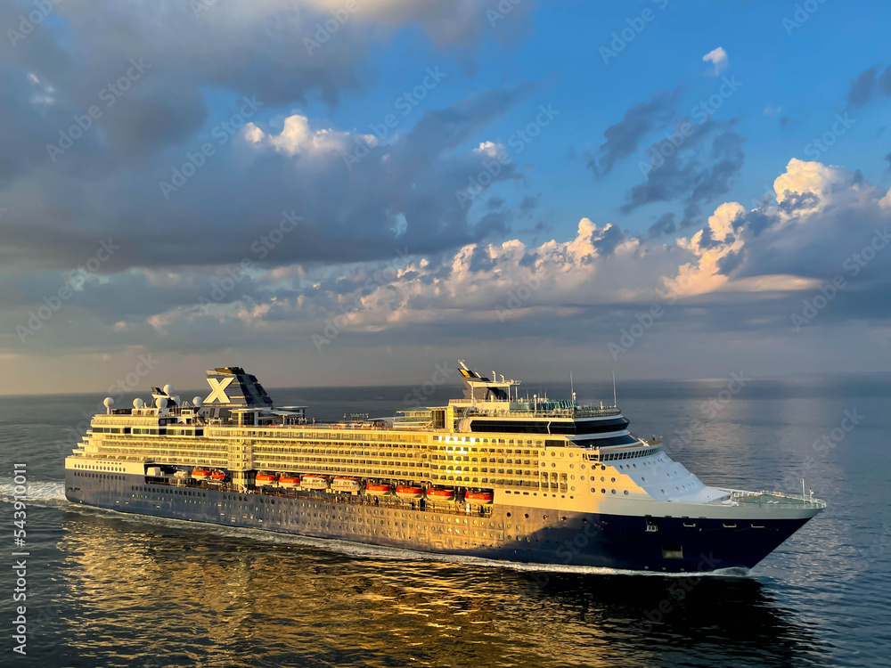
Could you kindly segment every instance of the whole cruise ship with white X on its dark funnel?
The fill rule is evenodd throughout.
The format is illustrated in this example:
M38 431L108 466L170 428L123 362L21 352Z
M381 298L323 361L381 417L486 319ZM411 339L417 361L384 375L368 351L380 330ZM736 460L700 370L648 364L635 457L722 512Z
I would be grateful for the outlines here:
M465 390L396 417L316 422L240 367L210 391L94 416L65 460L102 509L511 562L749 569L826 507L706 485L617 405L521 396L461 362ZM614 402L615 403L615 402Z

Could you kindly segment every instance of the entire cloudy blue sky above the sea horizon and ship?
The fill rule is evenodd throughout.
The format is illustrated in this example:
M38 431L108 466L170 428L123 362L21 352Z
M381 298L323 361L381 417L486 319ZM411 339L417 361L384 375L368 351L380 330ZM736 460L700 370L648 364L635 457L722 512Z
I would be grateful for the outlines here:
M6 2L0 393L891 370L889 12Z

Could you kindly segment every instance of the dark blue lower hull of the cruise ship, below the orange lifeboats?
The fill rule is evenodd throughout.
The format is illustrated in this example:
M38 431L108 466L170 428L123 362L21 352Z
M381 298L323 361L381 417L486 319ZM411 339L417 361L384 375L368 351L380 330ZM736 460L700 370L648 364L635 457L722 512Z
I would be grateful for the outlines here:
M635 517L494 506L462 512L418 501L331 493L237 493L66 472L69 501L153 517L560 566L666 573L751 568L807 518Z

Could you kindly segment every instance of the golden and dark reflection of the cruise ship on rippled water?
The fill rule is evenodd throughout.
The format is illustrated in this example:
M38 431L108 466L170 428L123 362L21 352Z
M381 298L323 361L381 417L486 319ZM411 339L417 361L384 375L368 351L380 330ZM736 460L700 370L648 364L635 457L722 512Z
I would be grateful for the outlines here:
M740 651L794 663L805 648L820 663L751 579L686 591L677 579L351 556L107 513L68 513L63 526L66 633L85 664L658 666L678 643L691 665L738 664ZM660 604L671 611L650 624Z

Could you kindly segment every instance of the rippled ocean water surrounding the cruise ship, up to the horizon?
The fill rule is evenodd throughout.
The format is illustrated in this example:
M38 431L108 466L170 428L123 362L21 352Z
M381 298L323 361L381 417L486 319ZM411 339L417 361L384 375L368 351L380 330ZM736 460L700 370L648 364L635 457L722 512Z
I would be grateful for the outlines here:
M412 391L270 394L332 420L395 414ZM611 399L609 387L576 393ZM887 374L620 387L634 432L664 436L705 482L800 493L804 477L829 503L750 573L704 577L437 558L75 507L62 458L101 399L0 400L0 665L891 665ZM17 463L27 656L12 652Z

